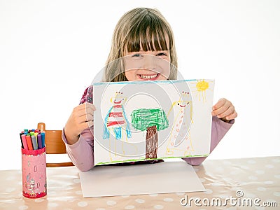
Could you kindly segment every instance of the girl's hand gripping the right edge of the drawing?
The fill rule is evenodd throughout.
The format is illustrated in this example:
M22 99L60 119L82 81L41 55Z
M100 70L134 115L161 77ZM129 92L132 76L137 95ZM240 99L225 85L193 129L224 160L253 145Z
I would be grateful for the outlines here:
M219 99L217 104L212 107L212 116L217 116L226 123L230 122L237 117L235 106L232 105L227 99Z

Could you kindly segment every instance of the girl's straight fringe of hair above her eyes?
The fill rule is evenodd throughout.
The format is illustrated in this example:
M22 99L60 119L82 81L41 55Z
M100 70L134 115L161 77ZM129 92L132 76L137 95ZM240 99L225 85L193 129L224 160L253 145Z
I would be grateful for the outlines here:
M127 52L169 50L171 36L164 22L146 15L127 34Z

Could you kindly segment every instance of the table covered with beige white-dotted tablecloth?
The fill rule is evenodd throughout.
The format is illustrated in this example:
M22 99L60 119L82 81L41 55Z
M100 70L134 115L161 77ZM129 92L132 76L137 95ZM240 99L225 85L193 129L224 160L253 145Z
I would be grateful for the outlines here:
M2 170L0 209L280 208L280 157L206 160L194 169L206 188L204 192L83 198L76 167L48 168L48 195L39 199L22 197L20 170ZM227 204L220 207L218 200ZM277 207L261 207L264 204Z

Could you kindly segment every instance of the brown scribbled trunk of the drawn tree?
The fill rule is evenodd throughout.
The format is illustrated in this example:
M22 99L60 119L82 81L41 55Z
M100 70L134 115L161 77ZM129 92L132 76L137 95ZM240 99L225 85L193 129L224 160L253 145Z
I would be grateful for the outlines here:
M157 127L147 127L146 134L146 159L157 158L158 154L158 132Z

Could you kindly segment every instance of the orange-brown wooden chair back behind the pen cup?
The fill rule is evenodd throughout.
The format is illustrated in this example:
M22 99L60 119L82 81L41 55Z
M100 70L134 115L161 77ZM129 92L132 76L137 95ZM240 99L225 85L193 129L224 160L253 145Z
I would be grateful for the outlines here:
M47 154L66 154L66 146L62 140L62 130L45 130L45 123L38 123L37 129L45 132L45 151ZM47 162L47 167L73 166L72 162Z

